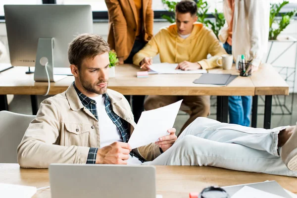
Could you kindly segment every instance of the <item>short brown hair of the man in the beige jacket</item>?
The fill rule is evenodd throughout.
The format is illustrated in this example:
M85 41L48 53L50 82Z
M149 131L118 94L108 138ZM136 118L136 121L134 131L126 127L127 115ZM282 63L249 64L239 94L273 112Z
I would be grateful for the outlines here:
M99 54L109 52L109 45L96 34L81 34L71 41L68 47L68 60L78 69L85 58L95 58Z

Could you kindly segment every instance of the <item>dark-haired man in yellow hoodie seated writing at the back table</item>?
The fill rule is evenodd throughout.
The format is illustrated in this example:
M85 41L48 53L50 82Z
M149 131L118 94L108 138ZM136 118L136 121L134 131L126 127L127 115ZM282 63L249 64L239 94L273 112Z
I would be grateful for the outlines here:
M162 28L148 44L136 53L133 63L150 69L150 57L160 55L161 62L179 63L177 69L196 70L217 67L216 61L225 49L219 44L215 34L197 21L197 4L193 0L182 0L175 7L176 23ZM209 59L207 55L211 54ZM197 117L207 117L210 110L209 96L148 96L145 109L155 109L184 99L190 107L190 118L181 132Z

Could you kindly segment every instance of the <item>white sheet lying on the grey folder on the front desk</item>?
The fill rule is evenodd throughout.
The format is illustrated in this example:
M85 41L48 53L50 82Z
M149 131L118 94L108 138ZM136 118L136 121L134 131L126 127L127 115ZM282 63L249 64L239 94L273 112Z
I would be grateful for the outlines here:
M232 198L283 198L271 193L260 191L258 189L244 186L241 190L236 192Z

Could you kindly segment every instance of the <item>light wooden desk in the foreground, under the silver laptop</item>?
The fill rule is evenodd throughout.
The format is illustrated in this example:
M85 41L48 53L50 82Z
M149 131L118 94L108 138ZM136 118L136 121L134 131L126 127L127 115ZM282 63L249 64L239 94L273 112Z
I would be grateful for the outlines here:
M230 186L275 180L283 188L297 193L297 179L262 173L233 171L206 166L156 166L156 190L163 198L189 198L208 186ZM48 169L23 169L18 164L0 164L0 183L49 186ZM50 198L50 189L38 191L33 198Z

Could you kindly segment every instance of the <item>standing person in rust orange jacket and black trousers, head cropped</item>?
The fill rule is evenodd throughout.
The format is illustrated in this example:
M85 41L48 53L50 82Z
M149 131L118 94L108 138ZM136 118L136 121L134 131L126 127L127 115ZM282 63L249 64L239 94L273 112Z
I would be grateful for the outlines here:
M119 63L133 64L133 56L152 38L152 0L105 0L109 15L107 42L114 49ZM125 96L130 101L130 96ZM144 110L145 96L133 96L135 122Z

